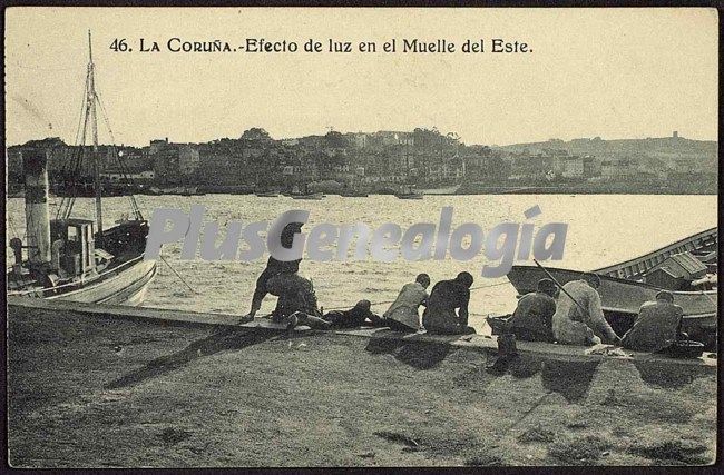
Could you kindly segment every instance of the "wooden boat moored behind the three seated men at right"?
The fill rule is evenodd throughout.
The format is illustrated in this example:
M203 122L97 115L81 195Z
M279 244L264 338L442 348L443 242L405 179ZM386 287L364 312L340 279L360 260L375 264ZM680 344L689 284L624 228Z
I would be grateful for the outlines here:
M642 304L654 300L659 290L667 289L684 310L684 331L701 342L711 339L717 328L717 279L713 274L717 246L717 228L713 228L634 259L593 270L600 276L598 294L612 327L617 333L629 328ZM585 274L551 267L547 270L561 285ZM546 277L537 266L512 266L508 273L519 295L535 291L538 280Z

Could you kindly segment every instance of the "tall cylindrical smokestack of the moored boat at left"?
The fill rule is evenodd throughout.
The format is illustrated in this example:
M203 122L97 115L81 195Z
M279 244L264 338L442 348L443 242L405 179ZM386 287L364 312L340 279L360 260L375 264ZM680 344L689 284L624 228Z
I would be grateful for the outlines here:
M42 149L22 151L26 177L26 229L28 260L50 263L50 216L48 211L48 155Z

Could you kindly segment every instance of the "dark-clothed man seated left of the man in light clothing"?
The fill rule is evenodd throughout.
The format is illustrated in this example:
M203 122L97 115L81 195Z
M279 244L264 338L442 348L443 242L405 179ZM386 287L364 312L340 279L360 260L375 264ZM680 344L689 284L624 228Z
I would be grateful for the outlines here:
M558 287L550 279L540 279L538 290L520 297L508 329L516 338L527 342L552 342L552 317L556 313Z

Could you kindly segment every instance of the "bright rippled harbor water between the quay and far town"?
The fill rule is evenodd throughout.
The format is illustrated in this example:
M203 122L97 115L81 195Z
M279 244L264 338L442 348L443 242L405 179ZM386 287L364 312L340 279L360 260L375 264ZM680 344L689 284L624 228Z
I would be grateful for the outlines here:
M438 226L440 211L453 208L452 229L466 222L479 225L483 234L500 222L532 224L535 231L548 222L568 224L564 259L549 261L551 267L589 270L622 261L672 241L716 226L716 196L671 195L486 195L486 196L425 196L422 200L400 200L393 196L344 198L330 195L322 200L294 200L288 197L261 198L254 195L203 196L138 196L144 216L150 218L155 208L177 208L188 212L192 205L206 208L205 221L218 221L219 240L228 221L245 225L260 220L272 221L292 209L309 210L310 220L304 230L329 222L351 225L363 222L371 229L384 222L394 222L404 231L413 224L432 222ZM60 198L51 199L56 205ZM532 219L524 212L538 205L542 211ZM51 206L51 214L55 207ZM129 212L124 197L104 199L104 221L110 226ZM8 199L7 241L25 236L23 200ZM92 217L92 199L79 198L74 216ZM242 249L244 245L239 245ZM179 280L164 263L146 297L146 306L194 311L243 315L248 310L254 285L263 270L267 255L254 261L180 260L182 243L165 245L162 256L195 290ZM532 258L532 256L530 256ZM11 253L7 265L11 265ZM518 261L531 264L531 261ZM320 305L325 309L351 307L360 299L369 299L373 310L382 313L387 301L417 274L428 273L434 284L454 277L459 271L471 273L476 281L471 293L470 323L480 328L490 313L508 313L515 308L516 290L505 277L480 277L482 266L495 264L486 258L485 249L473 259L392 263L366 260L312 261L301 264L301 274L314 283ZM267 297L262 313L272 310L274 298Z

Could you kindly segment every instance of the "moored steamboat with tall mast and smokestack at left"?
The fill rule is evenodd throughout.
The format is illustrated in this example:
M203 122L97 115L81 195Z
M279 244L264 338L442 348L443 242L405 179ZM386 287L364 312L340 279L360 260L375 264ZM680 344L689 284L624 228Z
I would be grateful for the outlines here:
M8 296L141 305L148 284L156 275L156 261L144 260L148 221L131 195L134 218L121 219L116 221L116 226L104 229L98 105L104 116L105 109L95 88L90 31L88 50L80 154L71 160L75 170L70 171L80 170L82 155L89 151L86 137L90 126L92 147L89 155L94 159L96 219L70 217L75 196L63 197L56 218L50 219L47 151L23 150L27 243L17 237L10 240L16 263L7 273ZM23 249L27 250L26 258Z

